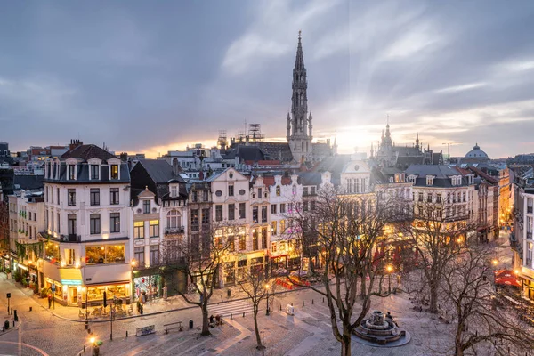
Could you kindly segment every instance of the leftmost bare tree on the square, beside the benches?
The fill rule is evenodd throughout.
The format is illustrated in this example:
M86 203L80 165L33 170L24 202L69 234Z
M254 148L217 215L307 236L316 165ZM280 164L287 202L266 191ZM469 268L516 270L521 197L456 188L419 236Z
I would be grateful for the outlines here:
M202 336L211 335L207 304L218 285L219 274L224 257L232 250L239 228L234 226L212 227L189 239L179 239L169 244L164 253L169 258L179 258L183 262L182 271L188 283L198 293L199 299L193 300L183 290L178 290L182 298L190 304L198 305L202 311Z

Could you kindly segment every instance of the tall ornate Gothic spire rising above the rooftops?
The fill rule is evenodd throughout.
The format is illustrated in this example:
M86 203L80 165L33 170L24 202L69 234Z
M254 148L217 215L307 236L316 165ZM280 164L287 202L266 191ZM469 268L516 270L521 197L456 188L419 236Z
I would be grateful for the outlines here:
M293 69L293 96L291 113L287 113L287 142L296 162L312 161L312 113L308 115L308 82L304 67L301 32L298 32L295 68Z

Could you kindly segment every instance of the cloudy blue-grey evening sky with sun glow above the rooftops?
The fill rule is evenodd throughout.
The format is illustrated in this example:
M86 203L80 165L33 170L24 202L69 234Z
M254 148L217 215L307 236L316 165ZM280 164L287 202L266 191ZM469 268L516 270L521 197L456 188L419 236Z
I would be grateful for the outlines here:
M534 2L0 0L0 141L149 157L284 140L298 31L316 139L534 152Z

